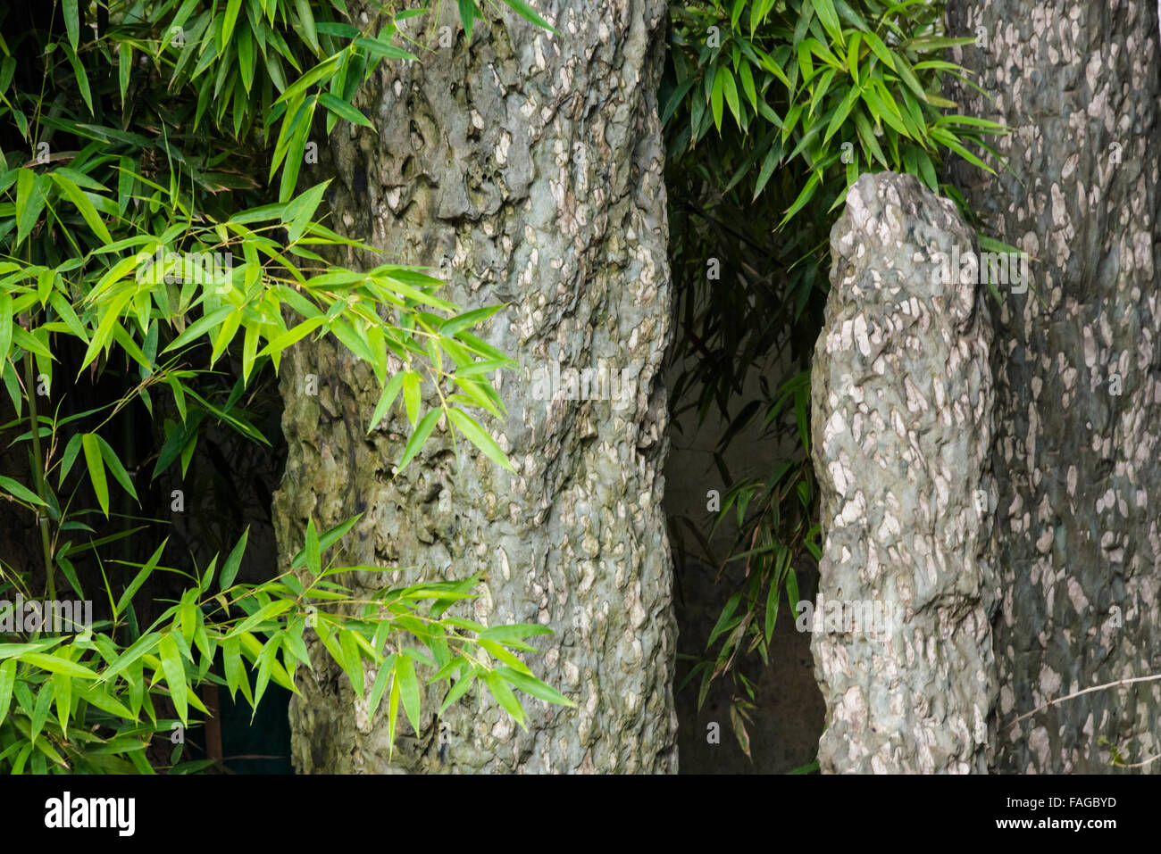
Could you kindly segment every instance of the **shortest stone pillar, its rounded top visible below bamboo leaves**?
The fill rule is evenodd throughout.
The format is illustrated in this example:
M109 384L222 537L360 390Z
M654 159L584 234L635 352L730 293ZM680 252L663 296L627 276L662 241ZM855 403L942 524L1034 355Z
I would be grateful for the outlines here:
M983 289L943 283L936 261L973 240L951 202L893 173L863 175L830 232L812 371L819 592L899 620L882 636L814 627L823 772L987 769L991 330Z

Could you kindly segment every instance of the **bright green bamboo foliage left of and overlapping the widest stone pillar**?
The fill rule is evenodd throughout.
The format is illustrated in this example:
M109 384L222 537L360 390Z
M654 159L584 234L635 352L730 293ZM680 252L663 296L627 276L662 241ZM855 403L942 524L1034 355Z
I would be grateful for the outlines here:
M354 599L342 573L397 571L326 559L358 516L323 533L310 522L291 570L251 584L237 580L248 529L224 558L166 565L160 523L140 515L143 478L183 475L207 430L268 442L248 396L308 336L333 335L382 385L363 429L402 407L413 434L399 469L441 419L511 468L481 420L504 414L488 376L514 363L473 334L505 306L463 312L413 267L332 265L331 247L373 249L316 219L327 183L297 191L311 137L369 125L352 104L359 84L380 63L421 61L424 44L404 46L398 30L421 12L355 27L341 0L104 8L64 0L39 27L0 26L0 368L14 413L3 429L9 458L29 462L0 476L0 497L36 513L41 534L31 566L0 559L0 596L75 594L110 615L84 632L0 628L0 773L200 770L180 745L160 766L146 748L204 719L203 686L251 705L271 681L295 692L308 631L370 714L383 704L392 741L401 704L419 729L424 683L446 686L445 708L483 683L521 725L511 688L571 704L518 654L546 628L454 615L477 577ZM467 24L479 15L461 12ZM99 383L98 405L64 414L62 400ZM437 403L425 411L425 399ZM164 435L147 455L109 432L136 401ZM152 556L128 557L129 538L146 537ZM82 566L102 584L86 587ZM139 591L161 573L182 592L140 624Z

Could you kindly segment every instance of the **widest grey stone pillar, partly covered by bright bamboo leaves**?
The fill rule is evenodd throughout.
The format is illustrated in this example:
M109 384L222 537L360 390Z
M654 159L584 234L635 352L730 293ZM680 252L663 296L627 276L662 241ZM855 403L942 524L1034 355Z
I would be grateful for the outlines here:
M444 716L445 763L430 692L423 731L404 724L389 761L383 711L367 721L327 667L304 678L291 707L294 761L304 773L675 772L661 504L670 278L655 97L664 3L538 2L558 37L493 10L470 46L454 3L442 8L454 45L387 66L356 99L378 133L340 123L320 146L338 175L329 201L336 227L388 253L348 262L439 266L461 305L511 303L482 336L521 366L500 386L509 418L490 425L517 475L470 446L457 462L437 429L392 479L405 419L365 437L378 397L369 371L333 341L301 346L281 371L280 557L300 548L308 516L333 524L363 511L342 559L440 578L483 571L466 613L551 627L531 664L577 708L525 697L525 733L469 692ZM419 31L430 19L412 23L434 42ZM532 371L556 363L635 369L636 395L626 408L533 399ZM318 397L302 393L309 372ZM358 581L369 588L381 577ZM322 660L320 645L312 654Z

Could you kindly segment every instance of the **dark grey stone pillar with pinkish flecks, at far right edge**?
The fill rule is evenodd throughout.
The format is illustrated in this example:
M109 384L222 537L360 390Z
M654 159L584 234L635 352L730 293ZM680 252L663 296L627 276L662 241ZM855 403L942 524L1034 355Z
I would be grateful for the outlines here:
M978 37L950 58L991 100L951 97L1012 129L1011 172L953 179L987 233L1033 256L1039 292L995 312L995 768L1108 772L1110 745L1128 762L1161 752L1158 683L1009 724L1161 671L1156 9L952 0L949 23Z

